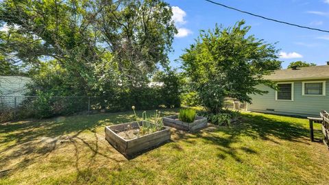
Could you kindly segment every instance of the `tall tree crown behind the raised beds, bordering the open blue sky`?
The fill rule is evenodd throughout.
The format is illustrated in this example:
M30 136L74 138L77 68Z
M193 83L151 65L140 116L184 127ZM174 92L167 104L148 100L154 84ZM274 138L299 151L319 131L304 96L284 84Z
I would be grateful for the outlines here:
M160 0L119 1L99 8L101 41L114 53L119 70L132 85L145 82L157 64L167 65L177 32L171 16L169 5Z

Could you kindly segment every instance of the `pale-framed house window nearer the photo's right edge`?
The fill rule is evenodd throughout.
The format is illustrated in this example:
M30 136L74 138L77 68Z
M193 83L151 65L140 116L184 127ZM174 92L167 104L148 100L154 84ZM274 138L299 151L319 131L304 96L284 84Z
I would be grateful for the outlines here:
M325 96L326 81L320 82L302 82L302 95L306 96Z

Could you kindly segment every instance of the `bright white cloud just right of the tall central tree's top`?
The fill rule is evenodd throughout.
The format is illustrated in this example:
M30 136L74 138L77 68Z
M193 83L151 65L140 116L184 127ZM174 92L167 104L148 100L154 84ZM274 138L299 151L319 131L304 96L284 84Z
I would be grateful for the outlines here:
M175 34L175 37L182 38L188 36L189 34L192 34L190 29L182 27L182 25L185 25L187 23L187 21L185 20L186 12L180 9L178 6L171 7L171 10L173 11L173 16L171 17L171 19L175 23L175 26L177 27L178 31L178 33Z

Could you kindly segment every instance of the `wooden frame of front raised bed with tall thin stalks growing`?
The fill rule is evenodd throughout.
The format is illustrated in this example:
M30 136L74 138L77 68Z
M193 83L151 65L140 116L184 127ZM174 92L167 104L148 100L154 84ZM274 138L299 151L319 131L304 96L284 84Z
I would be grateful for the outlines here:
M151 124L146 121L139 121L139 124ZM105 127L106 140L120 153L126 157L131 157L134 154L149 149L151 147L158 146L170 140L170 130L168 127L162 127L158 132L146 134L144 136L138 136L132 139L125 139L119 134L127 132L127 130L138 129L138 123L136 121L131 123L122 123L119 125L111 125Z

